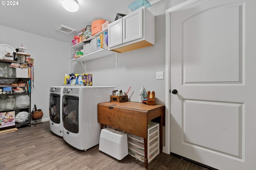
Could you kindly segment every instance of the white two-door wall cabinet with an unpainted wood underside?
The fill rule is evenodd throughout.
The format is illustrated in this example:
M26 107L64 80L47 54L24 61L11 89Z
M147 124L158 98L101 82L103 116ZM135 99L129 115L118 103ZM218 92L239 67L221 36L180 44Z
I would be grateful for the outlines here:
M108 49L122 53L155 44L155 16L145 7L108 25Z

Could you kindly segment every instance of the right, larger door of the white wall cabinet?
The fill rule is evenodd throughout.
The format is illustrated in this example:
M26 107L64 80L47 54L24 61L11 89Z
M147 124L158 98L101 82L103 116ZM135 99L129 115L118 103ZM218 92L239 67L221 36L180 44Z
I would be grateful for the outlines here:
M143 9L140 8L122 18L123 43L143 37Z

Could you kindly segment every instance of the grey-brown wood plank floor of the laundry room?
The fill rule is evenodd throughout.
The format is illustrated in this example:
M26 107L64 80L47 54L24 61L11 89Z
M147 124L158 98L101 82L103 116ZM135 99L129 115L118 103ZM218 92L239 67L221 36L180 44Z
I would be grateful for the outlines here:
M128 155L117 160L98 145L78 150L50 131L49 122L0 134L0 170L144 170L144 162ZM169 154L159 154L149 170L206 170Z

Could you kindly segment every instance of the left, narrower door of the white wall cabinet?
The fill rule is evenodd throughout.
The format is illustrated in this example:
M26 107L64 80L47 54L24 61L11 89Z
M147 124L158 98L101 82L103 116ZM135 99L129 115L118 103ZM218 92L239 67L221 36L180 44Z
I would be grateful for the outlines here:
M122 44L122 18L108 25L108 47Z

